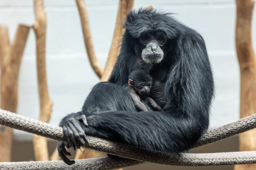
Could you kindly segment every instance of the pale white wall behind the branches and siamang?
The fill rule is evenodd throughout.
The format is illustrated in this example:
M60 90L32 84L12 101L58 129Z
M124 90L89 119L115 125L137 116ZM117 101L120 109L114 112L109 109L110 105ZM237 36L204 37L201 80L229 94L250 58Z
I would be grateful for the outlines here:
M95 51L104 65L113 36L118 0L86 0ZM174 16L205 38L213 66L216 97L211 128L239 118L239 67L235 54L235 3L233 0L135 0L134 7L153 5ZM57 125L67 113L79 111L99 79L92 71L82 38L74 0L45 0L47 15L47 80L53 100L50 123ZM255 16L255 14L254 14ZM0 24L9 27L13 40L18 23L34 22L32 0L0 1ZM253 17L253 23L256 23ZM255 25L253 25L255 26ZM253 27L255 42L255 27ZM255 46L255 43L254 43ZM39 100L35 61L35 36L30 31L19 77L18 114L38 118ZM15 130L16 139L31 135Z

